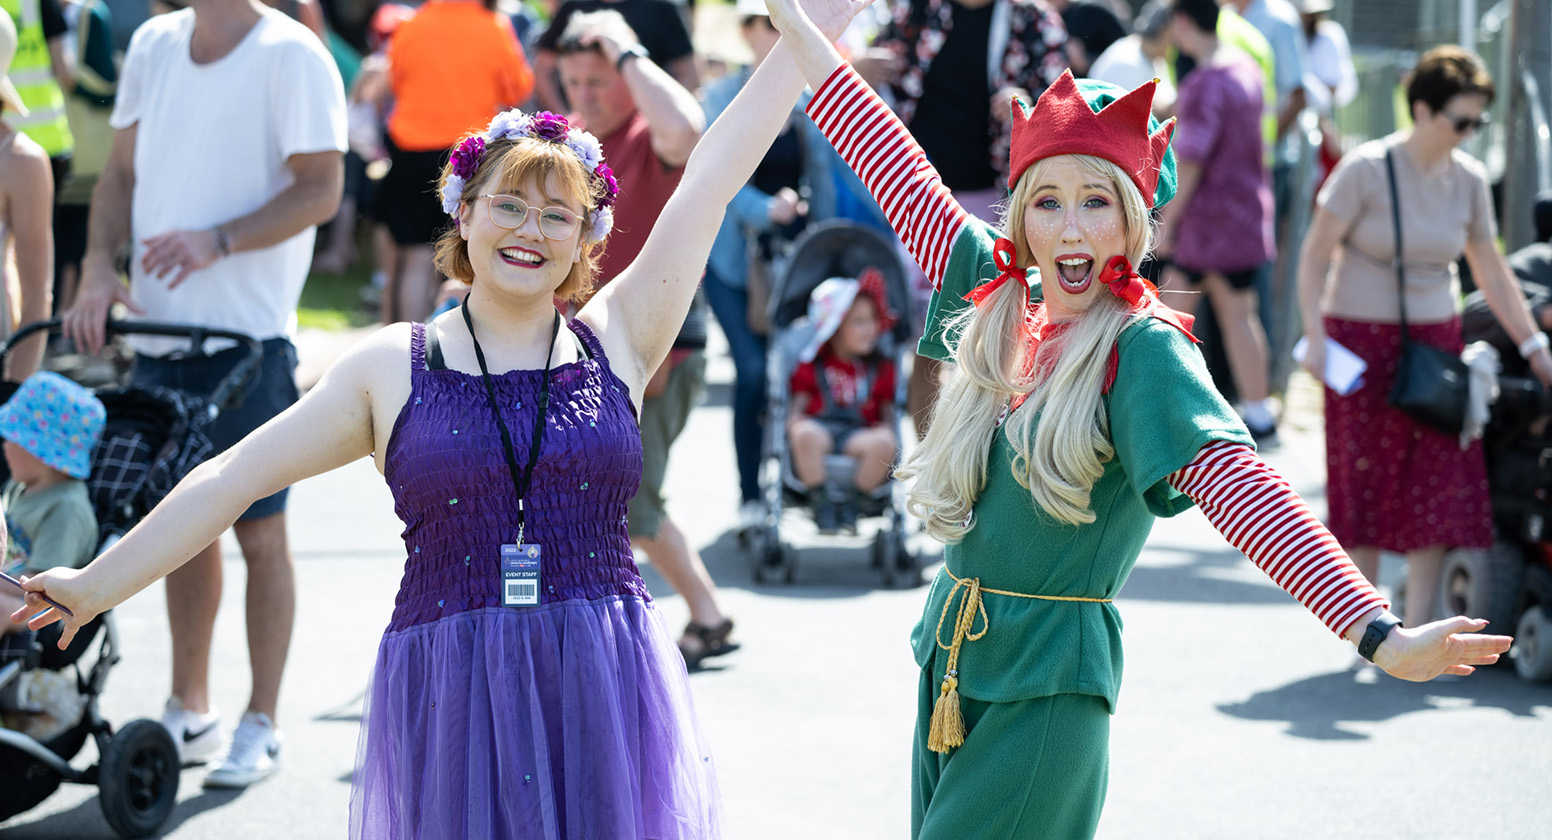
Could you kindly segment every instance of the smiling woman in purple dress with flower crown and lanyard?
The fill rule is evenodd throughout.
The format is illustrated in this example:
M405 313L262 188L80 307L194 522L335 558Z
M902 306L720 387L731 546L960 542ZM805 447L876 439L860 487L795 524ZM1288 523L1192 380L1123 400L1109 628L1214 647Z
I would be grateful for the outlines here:
M805 0L837 37L866 0ZM638 259L591 286L616 196L598 141L508 112L442 172L438 261L470 283L388 326L295 407L188 477L81 571L26 582L74 615L62 643L219 537L248 502L371 455L405 522L405 573L368 692L351 835L719 837L684 666L636 574L635 416L723 207L792 112L785 47L697 146ZM26 612L14 616L22 620Z

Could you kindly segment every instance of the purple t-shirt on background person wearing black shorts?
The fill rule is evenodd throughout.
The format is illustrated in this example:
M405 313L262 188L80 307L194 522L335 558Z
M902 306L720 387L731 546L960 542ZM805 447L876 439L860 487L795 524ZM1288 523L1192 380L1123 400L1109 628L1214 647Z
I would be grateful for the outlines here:
M1245 54L1198 65L1180 84L1175 154L1201 165L1175 236L1173 259L1183 269L1243 272L1277 255L1260 68Z

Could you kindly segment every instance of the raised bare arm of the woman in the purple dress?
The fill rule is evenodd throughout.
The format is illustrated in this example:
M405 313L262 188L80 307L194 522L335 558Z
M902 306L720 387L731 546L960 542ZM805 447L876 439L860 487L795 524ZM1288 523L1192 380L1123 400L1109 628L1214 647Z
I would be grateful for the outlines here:
M868 0L804 2L835 36L868 6ZM802 92L802 76L784 42L695 144L636 261L582 307L580 317L638 399L684 321L728 202L750 180ZM635 363L625 365L625 359Z

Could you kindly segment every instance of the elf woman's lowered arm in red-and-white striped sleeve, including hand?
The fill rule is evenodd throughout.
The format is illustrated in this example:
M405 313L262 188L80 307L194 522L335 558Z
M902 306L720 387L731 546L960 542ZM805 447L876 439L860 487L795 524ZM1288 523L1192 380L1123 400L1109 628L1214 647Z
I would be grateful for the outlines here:
M1207 520L1277 585L1333 632L1358 644L1386 602L1353 567L1308 505L1248 446L1217 441L1169 477ZM1478 635L1487 621L1450 618L1415 629L1395 627L1374 661L1392 677L1431 680L1470 674L1509 649L1509 637Z

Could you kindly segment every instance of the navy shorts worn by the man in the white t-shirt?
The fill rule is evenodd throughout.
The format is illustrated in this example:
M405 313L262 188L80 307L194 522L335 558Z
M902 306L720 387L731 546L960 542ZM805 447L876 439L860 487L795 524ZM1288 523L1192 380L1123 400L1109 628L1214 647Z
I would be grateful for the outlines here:
M247 396L239 405L223 410L205 429L210 443L216 446L211 456L231 449L300 397L296 393L296 348L290 338L268 338L262 345L264 360L259 363L258 376L244 390ZM244 356L242 348L228 348L208 356L141 356L137 352L129 384L137 387L160 385L208 399ZM237 519L262 519L284 511L286 492L282 489L255 502Z

